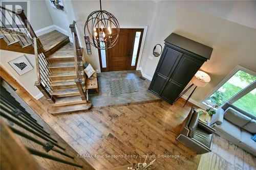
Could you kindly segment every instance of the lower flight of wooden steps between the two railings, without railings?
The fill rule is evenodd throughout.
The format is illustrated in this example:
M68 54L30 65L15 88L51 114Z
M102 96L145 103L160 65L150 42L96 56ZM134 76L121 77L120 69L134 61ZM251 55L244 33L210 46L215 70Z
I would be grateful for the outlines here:
M55 99L55 103L47 111L51 114L59 114L89 110L92 107L91 102L81 99L79 89L74 82L76 68L73 43L69 42L47 58L48 68L51 71L49 74L51 95ZM79 65L83 67L81 62Z

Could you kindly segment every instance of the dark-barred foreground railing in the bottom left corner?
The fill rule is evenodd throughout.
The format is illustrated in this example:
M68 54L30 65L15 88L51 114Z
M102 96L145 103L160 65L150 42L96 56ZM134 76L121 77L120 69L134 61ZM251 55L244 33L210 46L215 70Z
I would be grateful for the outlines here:
M4 154L4 158L9 157L10 159L12 159L11 156L13 156L13 154L16 154L16 151L13 152L13 150L11 150L10 148L17 147L23 148L23 151L25 152L25 154L27 154L27 156L29 156L29 154L36 155L39 157L40 160L50 159L56 162L72 165L74 167L83 168L82 165L75 162L74 156L69 155L69 151L66 151L65 147L61 146L61 144L58 143L58 140L55 139L55 136L53 137L50 132L46 131L44 127L41 126L35 118L33 118L31 113L28 113L26 109L19 102L16 101L14 96L11 95L10 91L8 91L5 86L2 86L1 84L0 87L1 142L3 140L3 143L5 143L6 146L2 147L1 143L1 153L3 149L3 152L6 153ZM3 130L3 128L5 131ZM6 129L8 129L8 133ZM20 136L21 138L18 138L18 136ZM14 141L18 142L18 145L15 145ZM29 145L26 144L26 142L28 141L30 142ZM10 151L11 153L9 153ZM26 162L27 158L28 157L25 156L22 161L13 162L17 163L17 165L12 165L12 167L18 167L19 165L28 166L23 162ZM17 161L17 159L15 160ZM33 161L33 159L30 159L30 161ZM38 163L40 165L39 161Z

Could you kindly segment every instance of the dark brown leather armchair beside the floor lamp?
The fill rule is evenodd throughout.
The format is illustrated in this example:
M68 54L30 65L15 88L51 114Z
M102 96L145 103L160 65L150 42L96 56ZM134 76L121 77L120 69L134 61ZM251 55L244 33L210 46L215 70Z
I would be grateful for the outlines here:
M196 112L195 108L191 108L176 140L196 151L197 154L204 154L211 152L210 147L214 133L215 129L202 123L199 120L199 113Z

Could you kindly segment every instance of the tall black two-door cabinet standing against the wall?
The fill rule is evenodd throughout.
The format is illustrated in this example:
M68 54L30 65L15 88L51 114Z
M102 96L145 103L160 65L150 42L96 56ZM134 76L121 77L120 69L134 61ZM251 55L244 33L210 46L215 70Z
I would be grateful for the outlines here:
M202 64L210 59L212 48L175 33L164 41L148 91L173 104Z

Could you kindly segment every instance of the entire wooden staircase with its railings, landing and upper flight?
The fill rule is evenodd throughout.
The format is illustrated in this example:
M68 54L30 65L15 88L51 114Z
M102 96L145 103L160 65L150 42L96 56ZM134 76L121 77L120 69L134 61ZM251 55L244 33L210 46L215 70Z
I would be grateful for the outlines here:
M68 36L56 30L37 37L23 10L11 11L1 6L0 10L12 17L1 20L0 48L35 55L35 86L51 103L47 111L59 114L89 110L92 104L88 101L82 48L78 44L75 21L70 25L73 44ZM7 25L17 19L22 26Z

